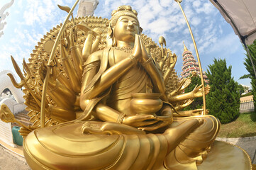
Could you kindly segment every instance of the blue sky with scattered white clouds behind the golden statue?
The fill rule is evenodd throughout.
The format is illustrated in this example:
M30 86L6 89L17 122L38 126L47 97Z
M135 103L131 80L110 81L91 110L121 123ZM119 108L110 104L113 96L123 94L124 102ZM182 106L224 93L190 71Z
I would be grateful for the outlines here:
M1 0L0 8L10 1ZM57 8L57 4L72 7L74 0L15 0L4 12L9 15L1 21L6 24L4 35L0 37L0 72L4 69L14 72L10 55L13 55L20 66L23 58L28 62L30 53L40 38L65 20L67 13ZM99 0L94 16L110 18L111 11L123 4L138 11L143 33L155 42L158 42L161 35L165 37L167 47L178 56L175 67L178 73L182 72L182 41L196 57L187 24L174 0ZM250 79L239 80L239 77L247 74L243 65L246 52L238 36L218 10L206 0L184 0L182 7L196 39L203 71L207 70L208 64L213 64L214 57L226 59L227 64L232 66L235 81L250 86ZM77 10L74 16L76 13Z

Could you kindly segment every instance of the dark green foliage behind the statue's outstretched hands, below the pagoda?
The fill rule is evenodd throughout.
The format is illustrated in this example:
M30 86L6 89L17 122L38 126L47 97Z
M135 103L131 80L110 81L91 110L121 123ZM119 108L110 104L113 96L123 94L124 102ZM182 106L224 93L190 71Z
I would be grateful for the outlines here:
M196 74L196 76L191 78L191 84L185 89L185 93L189 93L190 91L193 91L196 85L201 84L201 79L199 75ZM203 107L203 98L194 98L193 103L191 103L189 106L184 108L184 111L194 110L196 108L202 108Z

